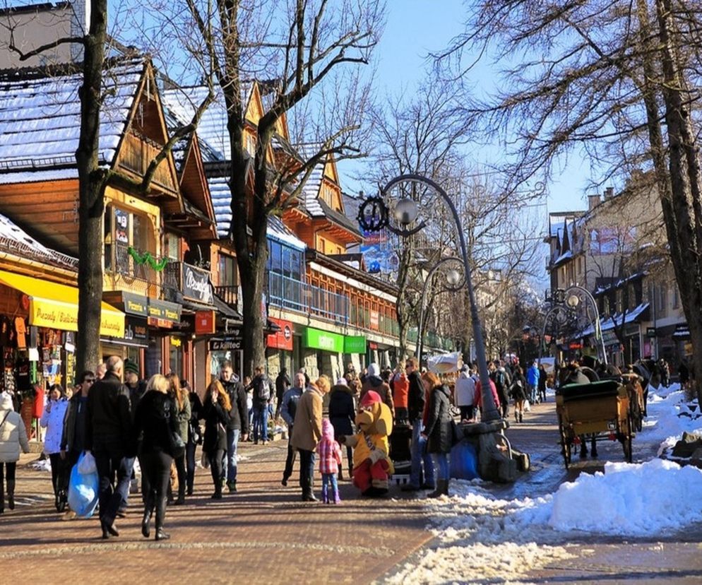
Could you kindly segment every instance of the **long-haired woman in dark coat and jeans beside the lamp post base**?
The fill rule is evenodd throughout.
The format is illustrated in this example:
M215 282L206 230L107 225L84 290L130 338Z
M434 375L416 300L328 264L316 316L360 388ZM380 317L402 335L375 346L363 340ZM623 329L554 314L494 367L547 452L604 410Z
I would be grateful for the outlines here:
M436 490L428 497L448 495L448 457L453 446L453 424L451 417L451 391L446 384L436 384L429 391L429 408L424 422L427 437L427 453L432 455Z

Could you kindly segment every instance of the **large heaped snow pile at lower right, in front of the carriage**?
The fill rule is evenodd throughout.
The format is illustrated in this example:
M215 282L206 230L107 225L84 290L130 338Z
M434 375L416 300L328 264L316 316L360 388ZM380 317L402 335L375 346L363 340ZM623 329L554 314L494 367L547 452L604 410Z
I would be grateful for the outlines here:
M651 536L702 521L702 471L672 461L605 463L605 473L564 483L552 502L557 530Z

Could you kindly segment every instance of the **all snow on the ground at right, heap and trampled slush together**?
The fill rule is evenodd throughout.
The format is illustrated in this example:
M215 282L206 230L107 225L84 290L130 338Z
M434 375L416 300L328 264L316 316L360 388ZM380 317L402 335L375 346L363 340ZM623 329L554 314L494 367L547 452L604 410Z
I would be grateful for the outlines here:
M684 402L677 385L650 391L648 420L636 444L652 449L641 452L655 453L658 444L674 444L683 431L702 430L696 403ZM500 500L487 488L480 480L452 480L451 497L428 501L436 543L388 581L509 581L573 557L566 545L588 533L665 536L702 521L696 505L702 471L661 459L608 462L604 473L583 473L535 499Z

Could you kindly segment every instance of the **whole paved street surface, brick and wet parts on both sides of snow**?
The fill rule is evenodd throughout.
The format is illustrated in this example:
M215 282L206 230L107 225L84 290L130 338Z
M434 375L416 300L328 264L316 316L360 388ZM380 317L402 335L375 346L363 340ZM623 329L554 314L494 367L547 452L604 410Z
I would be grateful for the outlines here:
M557 490L580 473L600 471L604 461L623 461L619 444L602 444L600 458L574 460L564 469L557 444L554 404L535 406L525 422L507 431L513 447L530 453L533 471L513 485L494 485L497 497L534 497ZM635 459L650 447L634 442ZM364 500L348 481L340 506L299 502L299 489L283 488L285 442L242 445L239 493L210 500L207 471L198 470L196 494L184 507L169 507L165 543L141 536L139 498L117 522L121 536L99 538L96 519L62 521L52 509L49 473L34 471L23 456L17 507L0 516L0 582L31 577L45 583L370 583L420 557L436 543L427 530L422 500L398 488L385 500ZM296 469L297 471L297 469ZM295 482L291 481L289 486ZM317 482L319 485L319 481ZM702 526L668 538L597 538L583 535L558 560L513 582L701 583ZM466 579L466 582L475 579ZM480 581L479 582L487 582ZM492 582L492 581L491 581ZM499 581L497 581L499 582Z

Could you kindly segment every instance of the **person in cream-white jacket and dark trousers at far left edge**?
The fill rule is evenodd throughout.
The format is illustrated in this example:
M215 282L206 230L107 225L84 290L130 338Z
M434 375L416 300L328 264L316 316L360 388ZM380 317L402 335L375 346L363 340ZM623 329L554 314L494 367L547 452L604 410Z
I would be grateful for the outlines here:
M5 481L8 507L15 509L15 469L20 447L29 453L29 440L22 417L13 410L12 396L0 394L0 514L5 512Z

